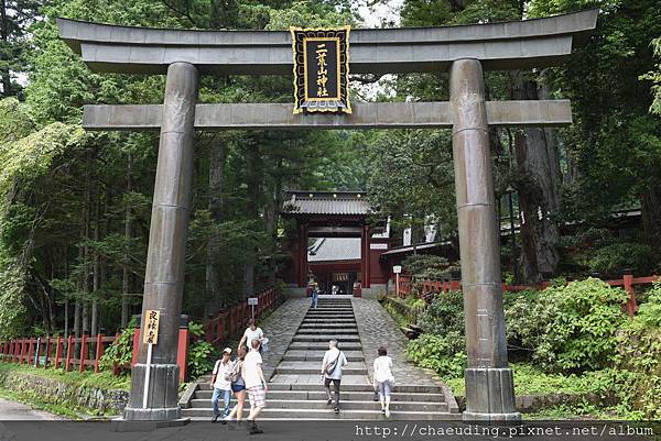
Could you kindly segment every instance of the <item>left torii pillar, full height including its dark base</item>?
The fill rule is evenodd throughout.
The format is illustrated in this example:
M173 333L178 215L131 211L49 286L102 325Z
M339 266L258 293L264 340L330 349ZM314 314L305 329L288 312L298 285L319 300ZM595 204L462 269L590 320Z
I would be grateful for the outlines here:
M148 405L143 409L147 344L142 344L144 326L141 327L138 363L131 375L131 396L123 414L127 420L181 418L176 351L184 293L197 88L195 66L188 63L170 65L142 300L142 323L147 322L148 309L161 311L159 341L153 348Z

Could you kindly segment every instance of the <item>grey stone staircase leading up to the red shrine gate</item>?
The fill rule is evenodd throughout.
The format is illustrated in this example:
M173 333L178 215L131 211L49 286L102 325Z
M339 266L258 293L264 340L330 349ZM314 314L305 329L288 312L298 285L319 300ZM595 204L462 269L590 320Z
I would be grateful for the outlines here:
M339 415L334 412L333 405L326 405L326 393L319 375L322 360L332 339L338 341L338 348L349 363L343 370ZM368 350L376 351L376 348ZM191 407L182 409L183 416L210 419L210 399L212 388L207 379L194 393ZM454 397L452 400L454 401ZM248 398L246 408L249 408ZM350 297L321 297L317 308L310 308L305 315L282 361L275 367L269 382L267 408L260 419L373 420L384 418L380 409L380 404L373 401L373 389ZM390 412L390 419L394 420L445 420L460 417L456 411L448 410L444 390L437 385L395 385Z

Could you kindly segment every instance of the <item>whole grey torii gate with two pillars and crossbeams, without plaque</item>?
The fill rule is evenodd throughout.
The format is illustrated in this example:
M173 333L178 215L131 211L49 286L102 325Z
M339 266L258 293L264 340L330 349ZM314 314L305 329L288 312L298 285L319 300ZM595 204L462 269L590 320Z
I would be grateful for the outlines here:
M483 69L562 63L595 27L597 10L538 20L354 30L351 74L449 71L449 102L355 103L353 114L292 114L293 104L196 104L201 75L292 75L289 32L126 27L58 19L59 36L95 71L166 74L162 106L86 106L88 130L160 130L144 282L161 311L152 385L142 407L147 349L133 367L127 420L175 420L176 345L195 130L452 128L466 316L465 420L518 420L508 367L488 125L572 122L570 102L485 101ZM142 331L144 332L144 327ZM142 341L142 338L140 339Z

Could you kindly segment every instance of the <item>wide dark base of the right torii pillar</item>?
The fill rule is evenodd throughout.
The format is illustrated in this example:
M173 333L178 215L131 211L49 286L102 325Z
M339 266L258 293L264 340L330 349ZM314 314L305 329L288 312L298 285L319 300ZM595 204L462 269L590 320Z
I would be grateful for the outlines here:
M514 383L509 367L472 367L465 371L464 421L520 421Z

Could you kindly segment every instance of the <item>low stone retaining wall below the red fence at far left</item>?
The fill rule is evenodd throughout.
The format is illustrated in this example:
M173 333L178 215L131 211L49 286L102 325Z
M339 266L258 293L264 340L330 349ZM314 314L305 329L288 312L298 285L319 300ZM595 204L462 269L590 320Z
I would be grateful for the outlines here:
M43 397L44 401L90 409L105 415L120 415L129 400L129 392L85 387L25 372L8 372L0 385L17 394Z

